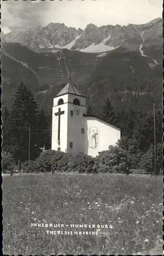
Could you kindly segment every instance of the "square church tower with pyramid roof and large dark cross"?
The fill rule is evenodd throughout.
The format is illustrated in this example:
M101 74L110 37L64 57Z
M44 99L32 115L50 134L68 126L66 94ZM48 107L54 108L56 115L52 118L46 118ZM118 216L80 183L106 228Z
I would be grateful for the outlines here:
M86 97L71 78L56 95L52 111L52 150L65 153L84 152Z

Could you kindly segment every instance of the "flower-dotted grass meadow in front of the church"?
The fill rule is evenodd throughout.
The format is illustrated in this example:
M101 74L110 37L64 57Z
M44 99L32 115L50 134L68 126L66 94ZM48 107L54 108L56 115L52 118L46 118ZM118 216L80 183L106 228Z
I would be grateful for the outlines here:
M162 178L38 174L3 178L4 254L162 254ZM104 224L98 236L31 223ZM64 227L57 230L75 230ZM80 229L79 229L80 230Z

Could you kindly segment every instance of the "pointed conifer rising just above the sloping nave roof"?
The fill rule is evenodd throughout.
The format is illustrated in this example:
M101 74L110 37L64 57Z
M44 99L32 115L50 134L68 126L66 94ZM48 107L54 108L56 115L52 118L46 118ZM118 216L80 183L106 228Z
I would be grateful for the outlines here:
M109 101L109 98L107 98L105 104L102 107L101 117L106 121L111 121L113 123L116 122L115 111Z

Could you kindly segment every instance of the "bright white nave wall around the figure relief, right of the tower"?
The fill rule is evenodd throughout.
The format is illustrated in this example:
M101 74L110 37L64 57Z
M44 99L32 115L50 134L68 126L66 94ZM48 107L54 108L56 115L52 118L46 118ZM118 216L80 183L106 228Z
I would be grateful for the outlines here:
M98 133L97 136L97 146L95 148L90 147L90 132L91 129L95 129ZM121 138L121 129L108 124L95 117L85 117L85 142L84 142L84 152L92 157L99 155L99 152L103 150L108 150L109 145L115 145L118 139ZM95 145L93 145L95 146Z

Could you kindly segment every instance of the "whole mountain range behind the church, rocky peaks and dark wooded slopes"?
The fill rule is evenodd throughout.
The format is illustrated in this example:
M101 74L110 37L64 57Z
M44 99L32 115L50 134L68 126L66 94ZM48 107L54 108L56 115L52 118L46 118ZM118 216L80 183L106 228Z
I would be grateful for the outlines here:
M1 40L2 100L9 107L17 82L24 81L39 105L49 103L51 109L68 75L95 112L103 97L109 97L117 110L125 105L149 107L153 100L160 104L162 18L123 27L89 24L84 30L50 23L2 32Z

